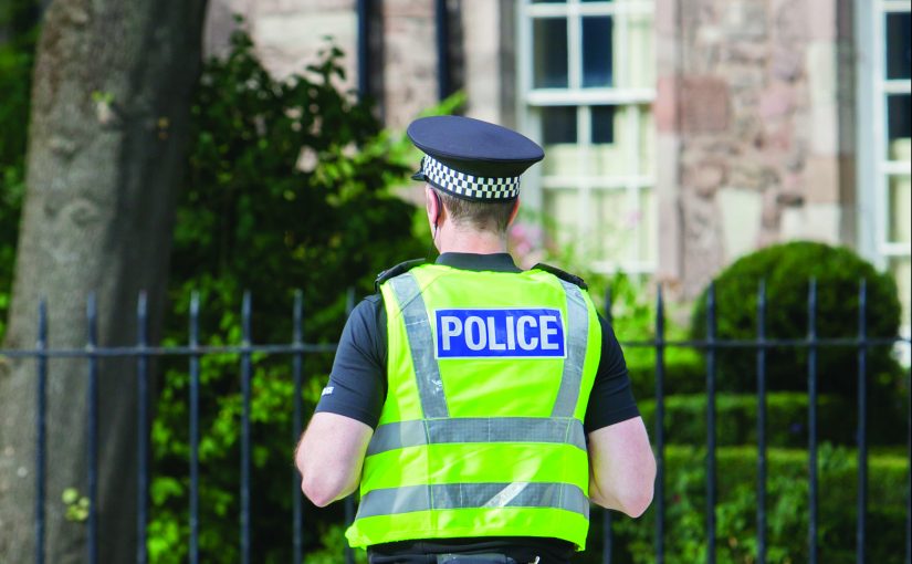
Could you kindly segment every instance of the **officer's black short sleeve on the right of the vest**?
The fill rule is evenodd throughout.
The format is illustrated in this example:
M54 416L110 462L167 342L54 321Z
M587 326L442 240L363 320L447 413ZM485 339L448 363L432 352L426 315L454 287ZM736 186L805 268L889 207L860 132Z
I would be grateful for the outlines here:
M584 427L587 434L640 415L630 389L630 377L620 343L611 325L601 315L598 321L601 324L601 359L589 405L586 407Z

